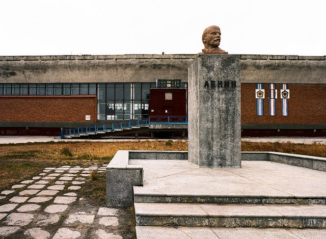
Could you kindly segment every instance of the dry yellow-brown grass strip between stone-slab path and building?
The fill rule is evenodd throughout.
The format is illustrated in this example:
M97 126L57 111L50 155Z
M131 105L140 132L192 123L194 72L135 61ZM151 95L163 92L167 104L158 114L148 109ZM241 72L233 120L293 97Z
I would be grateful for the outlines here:
M107 164L118 150L186 151L187 148L187 141L1 144L0 189L8 188L13 183L35 176L43 168L49 166ZM326 157L326 145L321 144L242 142L241 150L276 151Z

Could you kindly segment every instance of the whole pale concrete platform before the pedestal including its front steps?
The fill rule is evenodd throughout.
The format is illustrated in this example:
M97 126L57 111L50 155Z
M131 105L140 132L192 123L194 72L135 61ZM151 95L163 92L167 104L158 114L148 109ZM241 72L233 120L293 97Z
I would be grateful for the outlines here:
M143 187L133 186L137 238L325 238L326 172L269 161L129 165L144 169Z

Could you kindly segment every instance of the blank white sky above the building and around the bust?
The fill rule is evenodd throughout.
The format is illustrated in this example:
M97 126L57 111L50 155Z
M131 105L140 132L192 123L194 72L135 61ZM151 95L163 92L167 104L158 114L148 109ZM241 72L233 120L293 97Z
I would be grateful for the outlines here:
M0 55L197 54L209 25L229 54L326 55L326 1L0 0Z

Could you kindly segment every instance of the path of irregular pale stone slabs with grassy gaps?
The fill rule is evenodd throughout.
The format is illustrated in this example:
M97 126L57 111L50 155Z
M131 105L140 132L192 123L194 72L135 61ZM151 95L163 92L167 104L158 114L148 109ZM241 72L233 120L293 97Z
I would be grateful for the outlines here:
M90 170L105 166L45 168L0 194L0 238L105 238L119 225L118 209L89 204L80 190Z

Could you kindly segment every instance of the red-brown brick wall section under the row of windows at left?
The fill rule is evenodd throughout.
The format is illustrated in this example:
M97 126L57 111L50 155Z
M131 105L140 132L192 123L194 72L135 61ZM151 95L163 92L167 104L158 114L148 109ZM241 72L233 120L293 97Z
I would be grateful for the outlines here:
M96 96L1 96L0 105L0 121L96 122Z

